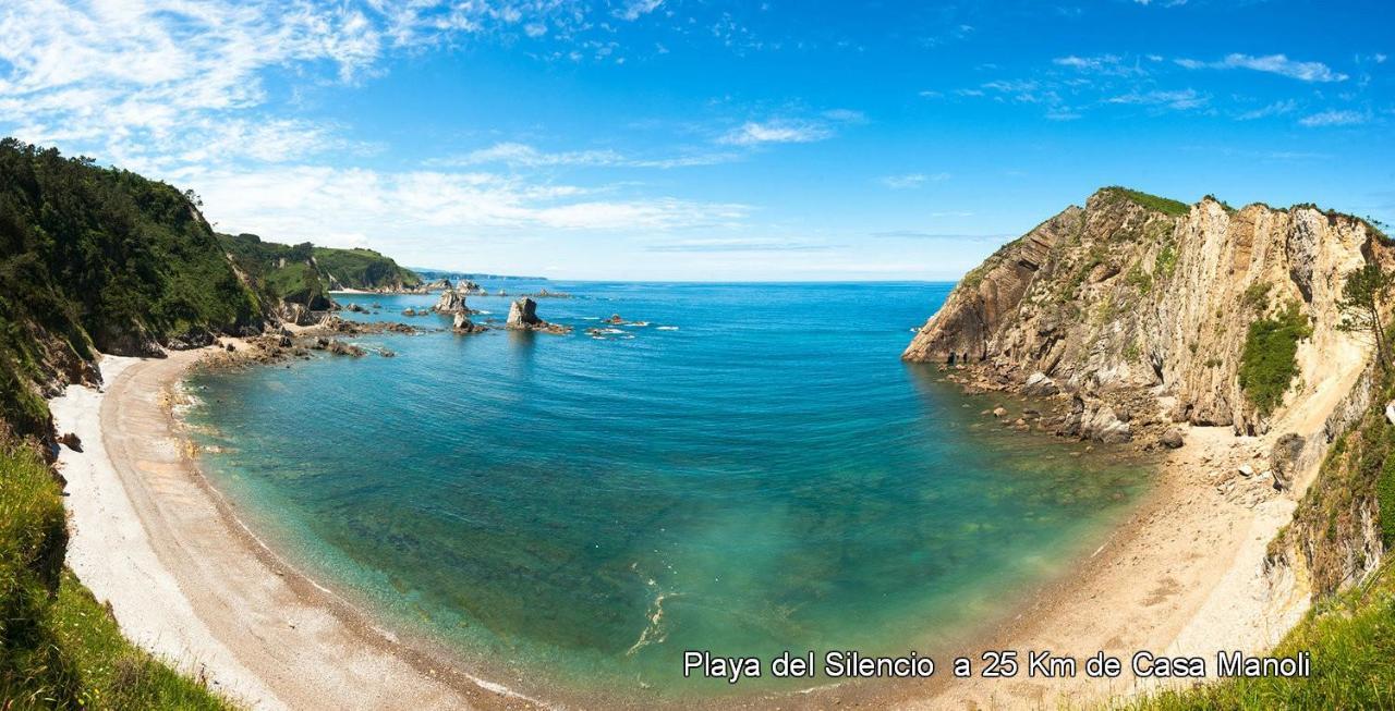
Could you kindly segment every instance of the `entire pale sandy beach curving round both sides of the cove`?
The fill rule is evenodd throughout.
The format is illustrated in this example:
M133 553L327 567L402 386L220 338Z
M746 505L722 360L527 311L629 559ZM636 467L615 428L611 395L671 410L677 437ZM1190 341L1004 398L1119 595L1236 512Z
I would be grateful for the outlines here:
M106 357L105 392L73 386L52 406L64 449L70 565L121 629L145 648L254 708L527 708L372 625L287 566L198 473L170 414L172 386L204 353ZM1349 376L1349 374L1346 374ZM1310 418L1317 421L1317 417ZM1262 651L1303 613L1306 592L1262 574L1265 545L1297 495L1268 481L1219 485L1258 461L1267 442L1193 428L1161 467L1152 494L1077 570L1024 605L983 648L1095 651L1127 658ZM1306 484L1306 481L1303 482ZM1105 701L1144 687L1117 680L951 679L854 685L739 705L1036 708ZM706 705L706 704L702 704Z

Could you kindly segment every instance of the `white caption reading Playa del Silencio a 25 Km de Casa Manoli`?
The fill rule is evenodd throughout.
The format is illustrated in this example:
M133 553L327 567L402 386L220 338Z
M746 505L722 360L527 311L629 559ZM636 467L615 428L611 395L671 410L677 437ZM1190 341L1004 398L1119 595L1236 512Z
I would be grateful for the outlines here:
M1240 651L1221 651L1216 654L1215 665L1208 669L1202 657L1162 657L1148 651L1134 652L1127 659L1105 652L1077 659L1050 651L1028 651L1020 655L1017 651L1006 650L985 651L976 662L968 657L956 657L953 673L956 678L976 675L983 679L1071 679L1081 673L1088 678L1115 679L1127 669L1134 676L1156 679L1307 678L1311 666L1311 654L1306 651L1293 657L1250 657ZM935 659L915 652L907 657L869 657L852 650L834 650L824 652L819 659L813 651L802 655L787 651L764 664L759 657L721 657L695 650L684 652L685 679L702 676L725 679L728 683L767 673L776 679L819 675L830 679L926 679L933 676L935 671Z

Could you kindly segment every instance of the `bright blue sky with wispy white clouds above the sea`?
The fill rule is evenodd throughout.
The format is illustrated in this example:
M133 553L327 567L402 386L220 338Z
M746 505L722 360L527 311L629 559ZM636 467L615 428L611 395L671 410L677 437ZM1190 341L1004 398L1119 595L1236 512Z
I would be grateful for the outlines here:
M579 279L954 279L1095 188L1395 222L1389 3L10 1L0 132L229 231Z

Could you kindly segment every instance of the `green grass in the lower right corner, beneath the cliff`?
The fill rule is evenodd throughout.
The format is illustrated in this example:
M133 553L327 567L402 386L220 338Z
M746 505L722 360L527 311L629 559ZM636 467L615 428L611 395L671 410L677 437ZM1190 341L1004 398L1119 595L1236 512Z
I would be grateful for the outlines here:
M1387 562L1367 584L1318 605L1275 654L1300 651L1313 654L1307 679L1225 679L1124 708L1395 708L1395 565Z

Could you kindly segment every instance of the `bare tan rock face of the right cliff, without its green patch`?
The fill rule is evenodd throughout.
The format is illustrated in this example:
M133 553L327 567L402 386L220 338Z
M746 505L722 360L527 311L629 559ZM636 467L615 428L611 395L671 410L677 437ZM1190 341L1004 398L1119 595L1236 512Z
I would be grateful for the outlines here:
M1370 358L1338 329L1336 303L1345 275L1387 251L1364 222L1315 208L1184 206L1105 188L965 276L903 357L967 360L1018 383L1043 372L1085 396L1147 390L1176 421L1267 431L1309 414L1296 404L1335 404L1309 396ZM1261 321L1302 336L1278 402L1242 378Z

